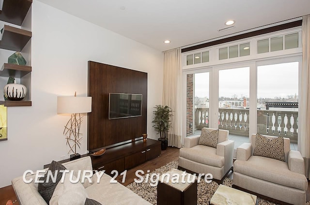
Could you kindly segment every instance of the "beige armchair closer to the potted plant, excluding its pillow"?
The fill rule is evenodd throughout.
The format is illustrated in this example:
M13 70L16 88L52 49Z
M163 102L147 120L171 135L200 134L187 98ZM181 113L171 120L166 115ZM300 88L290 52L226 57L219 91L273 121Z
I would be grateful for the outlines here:
M208 131L216 129L202 128ZM222 183L225 175L233 169L234 142L228 140L229 131L219 129L217 148L199 145L200 135L186 137L180 149L179 169L194 173L211 173L217 183Z

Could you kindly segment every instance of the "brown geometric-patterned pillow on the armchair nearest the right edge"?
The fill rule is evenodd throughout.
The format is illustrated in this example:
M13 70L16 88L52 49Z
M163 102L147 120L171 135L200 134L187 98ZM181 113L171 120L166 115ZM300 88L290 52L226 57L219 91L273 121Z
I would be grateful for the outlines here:
M263 135L256 134L253 155L285 161L283 137L269 140Z

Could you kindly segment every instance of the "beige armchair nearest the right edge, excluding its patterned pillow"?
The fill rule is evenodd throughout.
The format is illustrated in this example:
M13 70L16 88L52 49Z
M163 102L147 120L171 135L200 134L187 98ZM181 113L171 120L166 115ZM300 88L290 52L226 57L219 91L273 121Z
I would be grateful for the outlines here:
M233 187L267 200L279 200L278 204L305 205L308 181L304 159L298 151L290 149L290 139L284 138L285 161L253 156L255 142L256 135L253 134L251 143L243 143L237 148L237 159L233 163Z

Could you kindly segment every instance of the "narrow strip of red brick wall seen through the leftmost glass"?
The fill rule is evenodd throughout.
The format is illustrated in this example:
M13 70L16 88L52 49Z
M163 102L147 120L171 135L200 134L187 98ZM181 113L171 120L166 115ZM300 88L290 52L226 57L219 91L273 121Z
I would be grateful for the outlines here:
M186 77L186 136L193 134L193 84L194 74L189 74Z

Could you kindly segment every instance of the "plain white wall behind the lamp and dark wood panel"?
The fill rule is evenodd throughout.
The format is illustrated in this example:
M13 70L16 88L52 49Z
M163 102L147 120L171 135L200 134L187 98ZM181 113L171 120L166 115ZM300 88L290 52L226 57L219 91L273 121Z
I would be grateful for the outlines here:
M62 134L69 116L58 115L57 96L87 96L87 61L148 73L148 126L162 102L163 54L114 32L33 0L31 39L32 107L8 108L8 141L0 142L0 187L27 169L61 160L68 147ZM87 116L80 130L87 151Z

